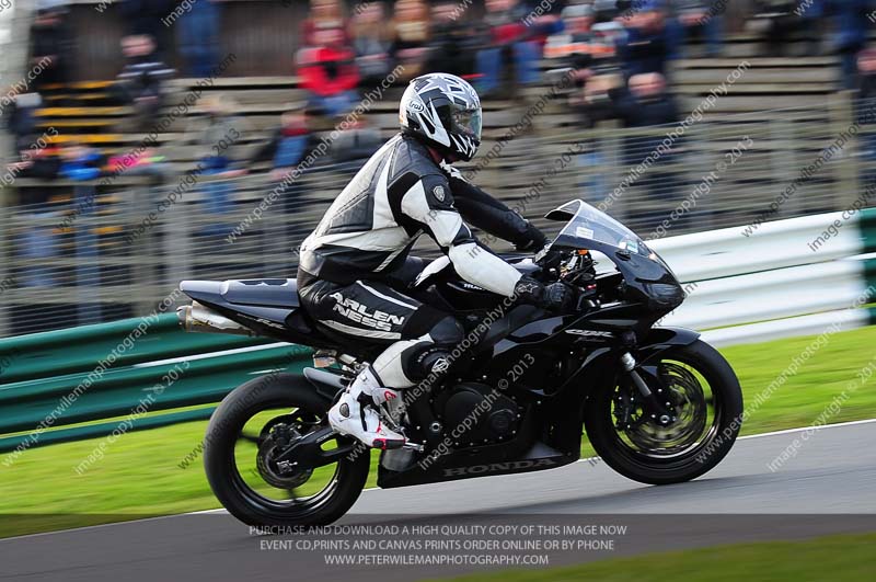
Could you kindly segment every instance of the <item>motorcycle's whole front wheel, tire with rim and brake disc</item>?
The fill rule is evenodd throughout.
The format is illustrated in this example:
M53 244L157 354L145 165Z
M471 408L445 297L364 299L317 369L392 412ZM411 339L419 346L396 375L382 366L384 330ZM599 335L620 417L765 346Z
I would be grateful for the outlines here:
M695 479L721 463L736 442L742 419L739 380L724 356L702 340L669 349L647 364L667 379L664 387L679 407L679 419L687 412L692 423L688 434L677 431L683 438L673 436L672 426L659 427L647 414L619 414L620 402L630 403L622 393L625 388L613 386L593 393L585 404L587 436L602 460L634 481L668 484ZM693 407L705 407L706 415ZM634 420L627 423L619 418ZM696 437L694 432L702 434Z

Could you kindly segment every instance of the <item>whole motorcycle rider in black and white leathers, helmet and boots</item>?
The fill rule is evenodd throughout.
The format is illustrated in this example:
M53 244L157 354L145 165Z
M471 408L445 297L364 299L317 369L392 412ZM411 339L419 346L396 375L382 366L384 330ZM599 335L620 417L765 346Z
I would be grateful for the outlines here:
M463 340L456 318L408 297L408 252L424 232L457 273L484 289L548 309L572 294L521 275L482 246L474 227L537 251L544 235L517 213L462 179L450 166L471 160L481 144L481 102L459 77L413 79L400 106L401 133L359 170L301 246L298 288L308 313L350 341L387 343L328 411L330 424L368 446L397 448L405 437L378 412L396 390L445 373Z

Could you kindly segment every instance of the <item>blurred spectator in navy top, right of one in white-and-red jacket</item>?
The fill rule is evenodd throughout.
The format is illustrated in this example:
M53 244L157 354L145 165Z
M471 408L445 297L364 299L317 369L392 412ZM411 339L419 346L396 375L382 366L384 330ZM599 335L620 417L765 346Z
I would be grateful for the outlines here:
M626 38L619 46L619 56L627 78L658 72L666 76L666 61L671 52L666 11L659 0L644 0L641 8L623 18Z

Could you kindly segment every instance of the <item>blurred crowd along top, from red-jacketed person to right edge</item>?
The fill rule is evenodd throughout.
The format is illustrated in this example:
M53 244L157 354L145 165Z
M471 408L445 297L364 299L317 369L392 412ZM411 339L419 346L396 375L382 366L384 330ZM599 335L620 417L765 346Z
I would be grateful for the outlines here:
M615 89L630 93L636 76L662 77L646 83L653 87L671 82L668 64L689 56L690 39L702 39L702 56L721 56L728 4L484 0L483 13L474 15L466 2L397 0L357 4L347 19L339 0L313 0L297 62L315 109L338 114L356 102L357 87L373 85L396 65L404 66L405 78L438 70L458 75L489 99L526 94L526 87L543 83L546 60L549 68L575 69L580 91L573 101L593 104L599 119L615 112L603 98ZM843 88L852 89L860 84L857 56L876 21L873 8L871 0L752 1L747 27L764 38L764 56L793 55L788 41L803 32L799 54L839 55Z

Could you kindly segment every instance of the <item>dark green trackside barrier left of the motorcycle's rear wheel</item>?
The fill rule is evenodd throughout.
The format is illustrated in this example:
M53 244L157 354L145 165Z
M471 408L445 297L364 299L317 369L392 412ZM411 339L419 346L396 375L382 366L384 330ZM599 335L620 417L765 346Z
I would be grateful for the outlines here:
M138 326L143 333L134 339ZM310 354L265 339L186 333L175 315L0 340L0 452L110 434L119 421L99 421L119 416L128 430L206 419L212 408L173 411L215 404L273 369L300 372Z

